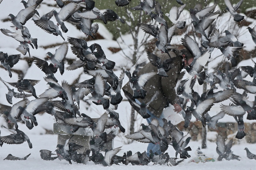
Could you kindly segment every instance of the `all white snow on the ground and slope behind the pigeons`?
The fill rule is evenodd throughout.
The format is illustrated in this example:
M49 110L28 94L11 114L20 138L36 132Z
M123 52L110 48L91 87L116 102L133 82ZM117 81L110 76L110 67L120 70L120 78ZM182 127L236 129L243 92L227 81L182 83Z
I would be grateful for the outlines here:
M44 2L47 3L54 3L55 2L53 0L44 0ZM1 11L1 15L0 15L0 19L6 19L8 18L7 16L9 15L9 13L12 13L14 15L16 15L18 13L19 10L23 9L23 5L15 0L3 0L3 2L0 4L0 11ZM49 7L46 4L41 4L40 8L38 9L38 12L43 15L49 11L51 11L53 9L53 7ZM59 8L56 8L57 11L59 10ZM184 11L183 12L184 15L183 17L186 18L188 17L188 11ZM229 14L225 14L223 17L227 20L222 20L222 22L228 22L227 25L225 24L219 24L221 27L221 30L225 30L227 29L227 27L225 26L230 26L230 24L232 24L232 20L230 21L229 18ZM53 18L54 19L54 18ZM246 18L248 19L250 22L252 22L252 24L250 25L251 27L253 27L256 24L256 20L252 19L252 18ZM55 22L55 21L54 21ZM188 23L189 24L189 23ZM68 36L70 37L83 37L84 34L75 29L74 26L72 26L69 23L65 23L65 25L68 27L69 31L68 33L63 33L63 36L65 39L67 39ZM107 58L115 61L116 62L116 66L117 67L126 67L129 68L131 67L131 63L129 62L124 62L127 61L127 59L124 57L124 55L122 54L122 52L118 52L115 54L112 54L111 51L108 50L108 47L115 47L118 48L118 44L116 43L116 41L112 40L112 35L105 29L105 26L102 25L101 23L99 23L100 25L100 29L99 29L99 33L101 33L102 35L105 35L105 40L96 40L96 41L88 41L88 45L91 45L92 43L99 43ZM5 29L9 29L11 31L14 30L14 28L11 28L10 26L12 26L11 22L2 22L0 21L0 26L1 28L5 28ZM56 43L62 43L63 40L60 36L56 37L52 34L48 34L46 32L44 32L41 28L39 28L38 26L36 26L34 24L33 21L29 20L26 23L26 26L28 27L30 34L32 37L37 38L38 39L38 46L39 48L36 49L32 49L30 47L30 53L31 56L36 56L39 58L44 58L46 57L46 53L48 51L53 52L55 51L55 48L47 48L44 49L42 47L44 46L49 46L52 44L56 44ZM245 46L247 46L247 48L245 48L245 50L252 50L255 49L255 44L252 41L252 38L248 32L248 30L246 30L247 26L243 26L240 30L239 30L239 37L238 39L244 43ZM144 32L141 31L139 33L139 38L144 36ZM177 41L180 42L180 38L183 37L182 36L176 36L173 38L173 41ZM121 44L122 48L124 49L125 52L127 52L128 54L131 53L131 50L129 49L132 46L132 42L131 42L131 38L129 35L125 35L124 38L126 39L126 44ZM0 51L3 51L4 53L8 53L9 55L11 54L19 54L19 52L17 50L15 50L20 44L18 41L15 41L14 39L12 39L11 37L7 37L4 34L0 33ZM218 56L220 54L219 50L215 50L213 52L213 54L215 56ZM28 57L28 54L26 55ZM22 58L24 56L22 55ZM146 55L143 56L144 59L146 58ZM142 57L142 59L143 59ZM73 58L76 59L76 56L72 54L70 48L68 49L68 55L67 58ZM212 56L212 59L214 58L214 56ZM141 60L142 60L141 59ZM218 61L215 60L216 62ZM211 63L212 66L214 66L214 62ZM238 64L239 66L246 66L246 65L251 65L253 66L253 63L251 62L251 60L247 60L247 61L243 61L241 63ZM211 65L209 66L209 68L211 68ZM41 79L41 81L35 85L36 88L36 93L39 95L41 93L44 92L44 90L46 90L49 86L46 85L46 82L44 81L43 77L45 76L44 73L37 68L37 66L32 63L32 66L28 68L27 62L20 60L18 64L16 64L13 69L17 69L17 70L23 70L24 73L27 72L27 74L25 74L24 78L28 78L28 79ZM73 70L73 71L68 71L65 70L63 76L60 75L59 71L55 74L55 77L59 80L59 82L61 82L62 80L67 80L68 83L72 83L79 74L81 74L83 72L83 69L77 69L77 70ZM117 76L120 75L120 71L116 71L115 72ZM18 74L13 73L13 77L9 78L8 76L8 72L6 70L4 70L3 68L0 68L0 76L2 79L4 79L5 81L8 82L16 82L18 80ZM88 78L91 78L88 75L82 74L79 82L84 81ZM252 80L250 77L247 77L248 80ZM124 78L124 83L127 82L127 77ZM201 92L202 88L199 85L196 85L194 87L195 91L197 92ZM16 89L15 89L16 90ZM5 93L7 92L6 87L2 84L2 82L0 82L0 103L2 104L6 104L9 105L8 102L5 100ZM254 96L250 95L249 96L249 100L254 100ZM34 100L33 97L29 98L29 100ZM19 99L13 99L13 103L16 103L20 101ZM223 104L229 104L230 101L225 101L223 102ZM91 116L91 117L99 117L102 113L104 113L104 110L101 106L94 106L94 107L90 107L88 110L86 109L86 107L88 107L84 102L81 103L81 109L80 112L81 113L86 113L87 115ZM130 109L131 106L127 103L127 102L122 102L117 109L117 112L120 115L120 121L123 124L125 129L128 129L128 122L130 120L129 118L129 114L130 114ZM170 108L170 110L172 110ZM215 115L216 113L218 113L219 110L219 104L215 104L215 106L212 107L211 111L209 112L210 115ZM166 111L167 112L167 111ZM169 111L168 113L169 114ZM245 115L246 116L246 115ZM180 116L181 117L181 116ZM105 168L105 169L112 169L112 168L122 168L122 169L131 169L133 168L134 170L141 170L141 169L155 169L158 168L159 165L154 165L154 166L131 166L131 164L129 164L128 166L116 166L113 165L111 167L103 167L102 165L94 165L93 162L89 162L87 165L83 165L83 164L76 164L73 163L72 165L69 165L67 161L65 160L54 160L54 161L44 161L43 159L40 158L40 153L39 150L41 149L48 149L51 150L52 152L55 151L56 149L56 145L57 145L57 135L45 135L45 129L48 130L52 130L53 129L53 117L51 115L48 114L43 114L43 115L36 115L37 118L37 122L38 122L38 126L34 127L33 129L29 130L25 125L23 124L19 124L19 129L21 129L22 131L24 131L30 138L30 141L33 144L33 148L29 149L28 148L28 144L27 142L23 143L23 144L19 144L19 145L8 145L8 144L4 144L3 147L0 148L0 165L1 168L0 169L67 169L69 168L70 170L79 170L79 169L84 169L84 168L92 168L92 169L101 169L101 168ZM175 119L174 119L175 118ZM172 123L179 123L182 119L179 118L177 116L176 113L172 113L172 116L169 117L169 120L172 120ZM192 121L194 121L195 119L192 119ZM244 120L245 122L252 122L252 121L248 121L248 120ZM228 115L225 115L224 118L222 118L219 122L234 122L234 118ZM135 128L138 128L140 123L146 123L145 120L143 120L139 115L137 115L137 121L135 122ZM5 125L6 123L4 122L4 119L1 118L0 119L0 125ZM1 130L1 136L5 136L5 135L9 135L10 131L7 129L4 129L3 127L0 127ZM124 135L128 134L128 132L125 132ZM214 138L214 134L209 134L208 135L210 138ZM133 153L135 152L144 152L144 150L146 150L147 148L147 144L143 144L143 143L138 143L138 142L133 142L132 144L125 144L126 143L126 139L123 137L123 134L120 134L120 136L115 138L114 141L114 148L119 147L119 146L123 146L121 152L119 152L117 155L122 156L123 152L127 152L129 150L132 150ZM190 141L189 146L192 148L192 151L189 152L189 154L191 155L191 158L196 157L195 151L198 148L198 146L201 145L201 141ZM188 158L187 160L185 160L184 162L180 163L180 165L172 167L173 169L179 169L179 170L192 170L192 169L208 169L208 170L217 170L217 169L245 169L245 170L249 170L249 169L255 169L255 165L256 162L255 160L249 160L246 157L246 152L244 151L244 148L248 147L248 149L252 152L256 154L256 144L247 144L245 142L244 139L240 140L239 142L236 143L236 145L234 145L231 150L234 152L234 154L239 155L241 157L241 161L237 161L237 160L223 160L221 162L207 162L207 163L189 163L188 161L191 158ZM210 142L207 141L207 149L202 150L206 156L208 157L214 157L217 158L218 154L216 153L216 144L214 142ZM169 152L170 156L174 157L175 156L175 151L172 147L169 147L169 149L167 150L167 152ZM26 155L28 155L29 153L31 153L31 155L28 157L27 160L25 161L10 161L10 160L3 160L9 153L11 153L14 156L17 157L24 157ZM152 163L150 163L149 165L152 165ZM161 166L161 169L169 169L170 167L167 166Z

